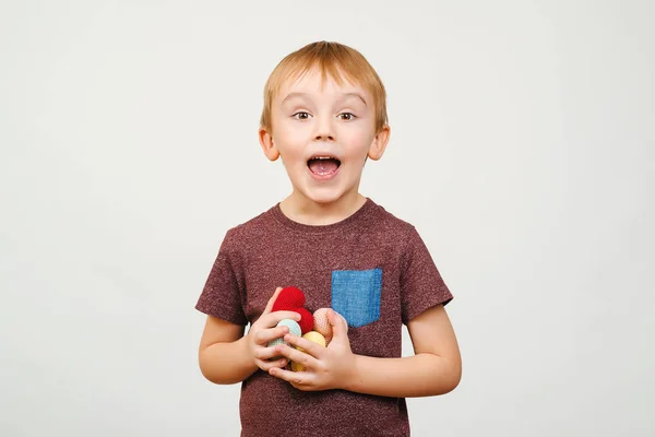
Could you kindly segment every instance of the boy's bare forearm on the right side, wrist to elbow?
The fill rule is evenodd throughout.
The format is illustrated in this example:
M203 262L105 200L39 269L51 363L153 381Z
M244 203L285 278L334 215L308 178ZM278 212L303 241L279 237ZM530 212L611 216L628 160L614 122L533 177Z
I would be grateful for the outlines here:
M434 354L403 358L355 355L345 390L394 398L444 394L460 383L461 367Z

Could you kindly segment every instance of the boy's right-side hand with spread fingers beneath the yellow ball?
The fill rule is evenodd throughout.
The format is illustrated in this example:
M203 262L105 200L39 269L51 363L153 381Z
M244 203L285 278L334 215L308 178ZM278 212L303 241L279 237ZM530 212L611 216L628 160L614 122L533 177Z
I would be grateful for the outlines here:
M305 352L286 344L275 346L274 356L282 355L289 361L305 366L305 371L290 371L281 367L272 367L269 373L284 379L302 391L340 389L348 386L355 376L355 354L348 341L346 319L334 310L327 311L327 320L332 326L332 341L323 347L307 339L286 334L284 340L291 346L302 347Z

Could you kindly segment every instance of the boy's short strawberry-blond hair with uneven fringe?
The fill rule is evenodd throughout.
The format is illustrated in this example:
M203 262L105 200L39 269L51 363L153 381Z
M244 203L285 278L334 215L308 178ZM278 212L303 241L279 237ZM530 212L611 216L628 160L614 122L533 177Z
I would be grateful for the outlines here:
M380 132L389 122L384 84L366 58L343 44L318 42L287 55L269 76L264 86L264 107L260 119L263 129L271 131L271 107L283 83L289 79L299 79L314 67L321 71L323 81L330 75L338 85L348 81L371 94L376 108L376 132Z

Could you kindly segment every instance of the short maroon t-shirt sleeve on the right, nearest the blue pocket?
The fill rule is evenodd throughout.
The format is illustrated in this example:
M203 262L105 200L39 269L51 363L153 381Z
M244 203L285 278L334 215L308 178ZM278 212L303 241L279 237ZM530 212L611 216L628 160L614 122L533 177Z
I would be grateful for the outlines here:
M409 228L401 270L403 323L439 304L453 299L422 238L414 226Z

